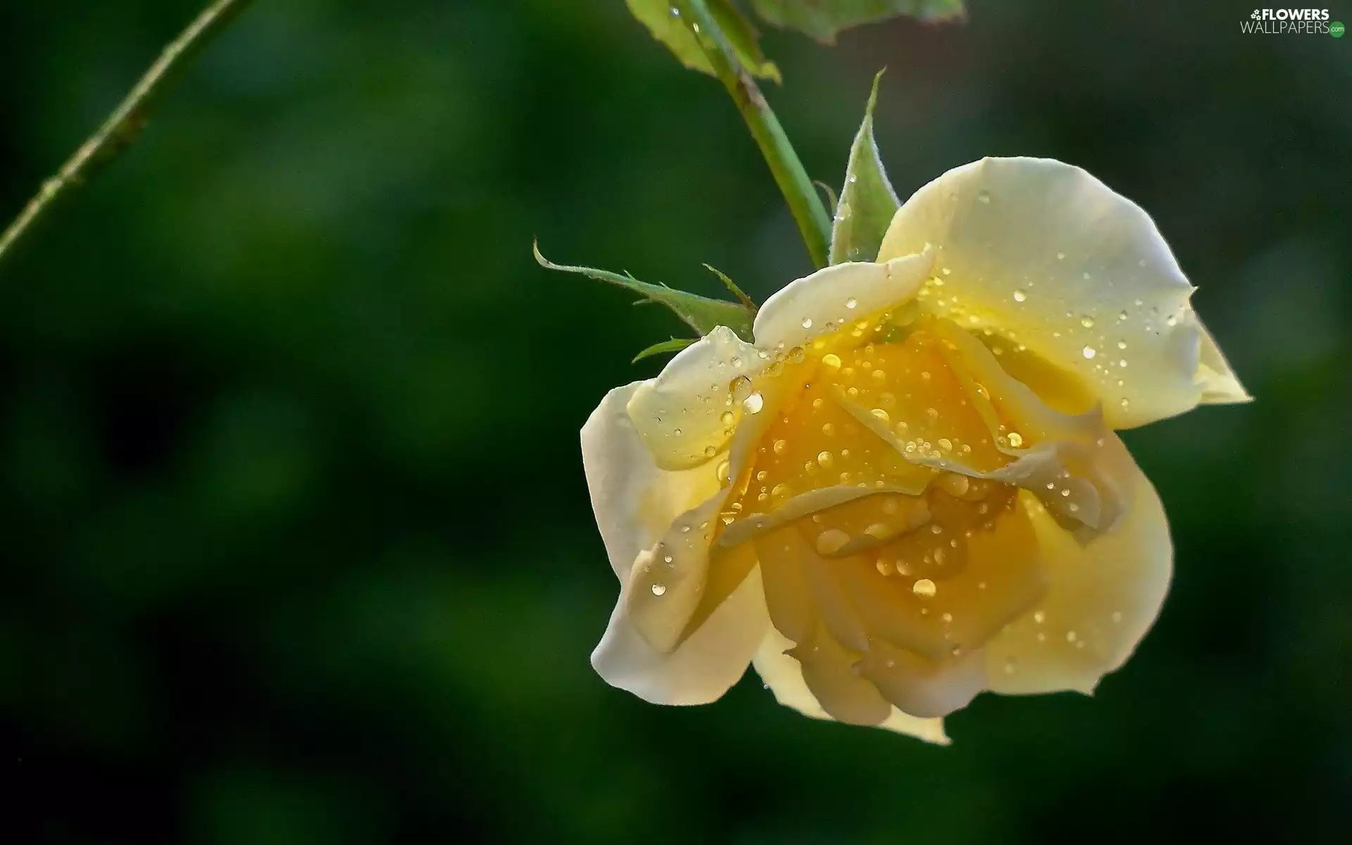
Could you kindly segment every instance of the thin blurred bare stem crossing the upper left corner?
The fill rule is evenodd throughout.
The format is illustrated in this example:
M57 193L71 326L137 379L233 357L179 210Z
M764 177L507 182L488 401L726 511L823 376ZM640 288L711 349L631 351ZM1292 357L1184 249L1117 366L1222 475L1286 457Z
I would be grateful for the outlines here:
M151 107L169 89L170 82L192 62L201 49L249 5L251 0L215 0L188 24L178 38L169 42L155 64L118 104L103 126L61 165L57 174L42 183L38 195L28 200L19 216L0 234L0 266L15 245L43 220L72 189L88 180L101 165L131 146L146 124Z

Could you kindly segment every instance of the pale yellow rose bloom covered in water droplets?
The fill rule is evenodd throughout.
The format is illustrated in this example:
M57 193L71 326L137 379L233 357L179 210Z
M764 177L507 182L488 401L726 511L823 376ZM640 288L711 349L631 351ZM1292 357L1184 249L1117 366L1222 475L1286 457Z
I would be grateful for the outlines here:
M986 158L876 262L791 283L581 431L621 581L592 654L662 704L752 664L806 715L946 742L991 690L1090 692L1172 545L1115 429L1248 400L1151 218L1086 172Z

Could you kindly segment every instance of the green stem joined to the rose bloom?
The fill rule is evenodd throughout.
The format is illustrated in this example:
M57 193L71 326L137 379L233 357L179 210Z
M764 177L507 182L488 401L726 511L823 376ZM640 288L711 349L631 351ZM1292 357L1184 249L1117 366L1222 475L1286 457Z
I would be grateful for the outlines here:
M746 120L752 138L760 146L765 164L769 165L775 183L779 185L788 210L803 234L807 254L818 268L826 266L827 245L831 239L831 220L822 206L822 199L813 187L813 180L798 160L794 145L788 142L784 127L779 124L756 80L737 58L731 45L708 11L704 0L675 0L685 23L695 28L696 38L704 49L714 73L737 104L737 111Z

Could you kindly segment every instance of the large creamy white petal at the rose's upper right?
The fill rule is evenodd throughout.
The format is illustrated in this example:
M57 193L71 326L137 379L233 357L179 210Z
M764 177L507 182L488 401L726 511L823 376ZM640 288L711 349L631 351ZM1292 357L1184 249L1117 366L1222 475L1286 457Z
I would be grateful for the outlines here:
M926 243L946 270L944 296L922 299L926 310L1013 334L1075 373L1114 429L1247 399L1218 350L1215 372L1199 366L1207 335L1188 304L1192 285L1149 215L1079 168L983 158L949 170L896 212L879 260Z

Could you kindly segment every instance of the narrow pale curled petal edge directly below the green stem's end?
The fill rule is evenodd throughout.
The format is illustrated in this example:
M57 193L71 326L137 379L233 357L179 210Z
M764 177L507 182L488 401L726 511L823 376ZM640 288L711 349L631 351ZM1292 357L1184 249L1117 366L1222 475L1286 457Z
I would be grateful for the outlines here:
M923 245L911 251L880 264L837 264L788 283L756 312L756 343L767 350L802 346L846 320L909 301L934 262Z

